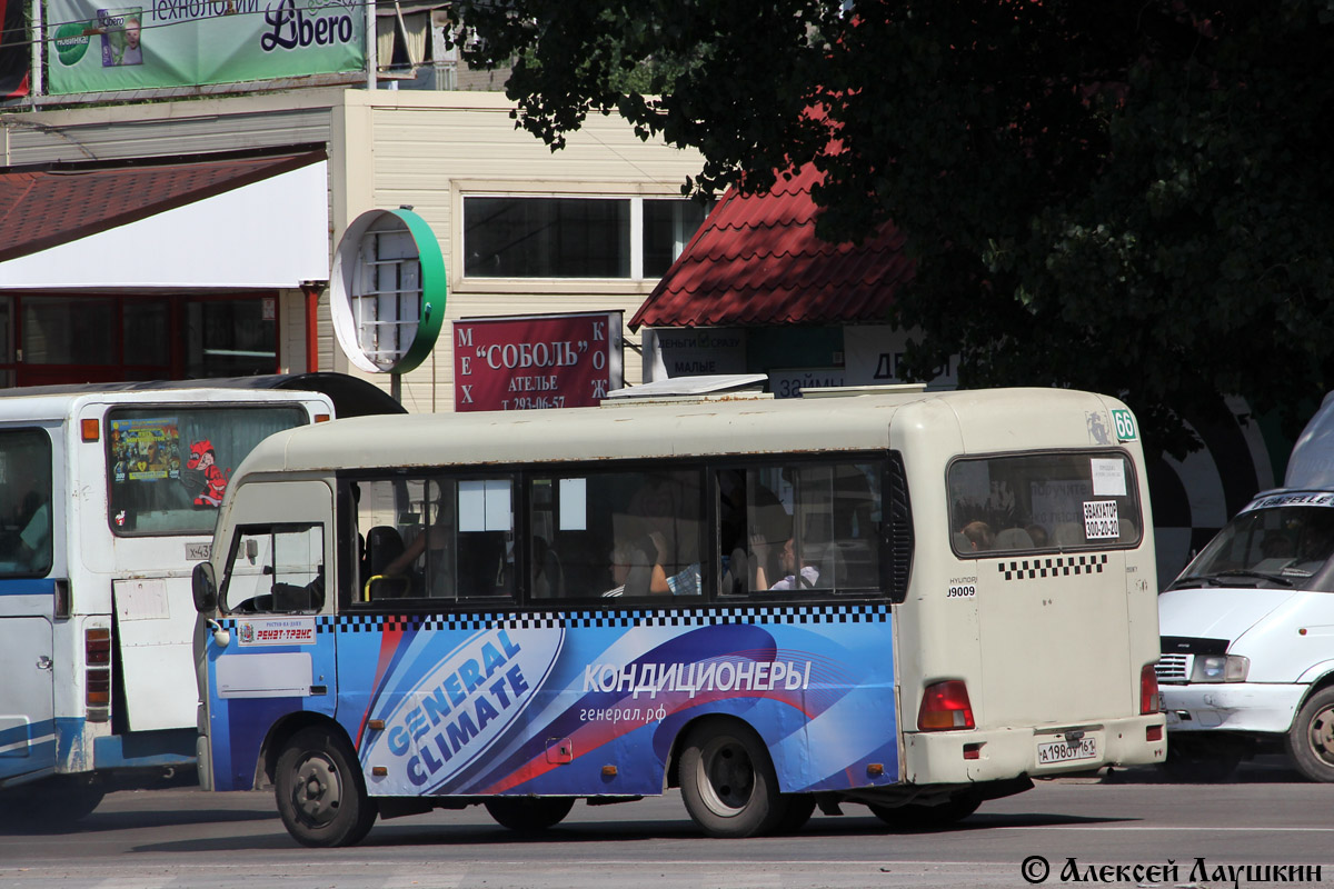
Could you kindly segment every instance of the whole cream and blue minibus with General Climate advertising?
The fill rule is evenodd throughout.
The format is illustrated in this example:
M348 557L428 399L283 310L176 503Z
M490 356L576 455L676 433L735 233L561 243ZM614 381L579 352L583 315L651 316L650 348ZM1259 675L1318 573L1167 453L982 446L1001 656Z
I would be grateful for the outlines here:
M1057 389L340 420L195 573L205 789L295 840L680 786L719 837L1161 762L1134 417Z

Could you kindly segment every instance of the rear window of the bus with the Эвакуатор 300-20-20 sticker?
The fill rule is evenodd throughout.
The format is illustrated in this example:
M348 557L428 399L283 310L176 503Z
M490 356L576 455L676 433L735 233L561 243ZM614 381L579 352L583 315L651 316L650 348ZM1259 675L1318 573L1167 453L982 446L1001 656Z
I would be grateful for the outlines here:
M1134 546L1143 528L1134 470L1117 452L955 460L948 489L963 557Z

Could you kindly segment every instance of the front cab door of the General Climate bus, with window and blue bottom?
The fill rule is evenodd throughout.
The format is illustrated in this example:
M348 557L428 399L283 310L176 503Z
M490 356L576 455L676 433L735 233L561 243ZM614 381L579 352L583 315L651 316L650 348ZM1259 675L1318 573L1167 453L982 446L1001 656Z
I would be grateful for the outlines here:
M219 590L227 633L205 633L208 733L216 789L249 789L269 729L334 714L332 496L317 481L253 482L236 492ZM321 632L324 630L324 632Z

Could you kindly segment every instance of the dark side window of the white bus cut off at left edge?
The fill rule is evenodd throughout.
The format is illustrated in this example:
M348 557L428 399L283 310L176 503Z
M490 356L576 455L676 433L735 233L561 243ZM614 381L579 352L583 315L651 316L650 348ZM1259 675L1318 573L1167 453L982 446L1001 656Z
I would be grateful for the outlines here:
M51 437L0 432L0 576L51 570Z

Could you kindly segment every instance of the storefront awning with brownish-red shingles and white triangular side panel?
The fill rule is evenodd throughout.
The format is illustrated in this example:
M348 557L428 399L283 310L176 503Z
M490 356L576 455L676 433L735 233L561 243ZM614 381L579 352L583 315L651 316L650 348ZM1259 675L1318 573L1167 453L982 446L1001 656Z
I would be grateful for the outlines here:
M0 169L0 289L328 279L323 149Z

